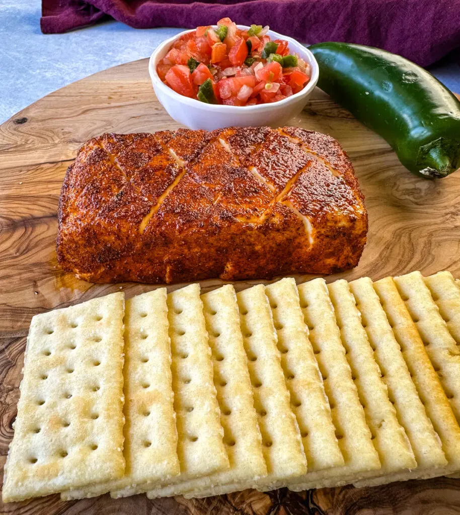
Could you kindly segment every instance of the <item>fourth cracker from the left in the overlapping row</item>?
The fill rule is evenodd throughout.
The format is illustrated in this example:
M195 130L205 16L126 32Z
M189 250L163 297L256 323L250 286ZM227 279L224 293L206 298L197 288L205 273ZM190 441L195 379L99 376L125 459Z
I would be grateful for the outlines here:
M262 438L255 413L247 357L243 347L236 294L228 284L201 295L214 366L214 385L224 428L230 468L206 477L169 487L151 490L149 499L199 494L205 488L214 495L225 493L228 485L238 483L245 488L267 473Z

